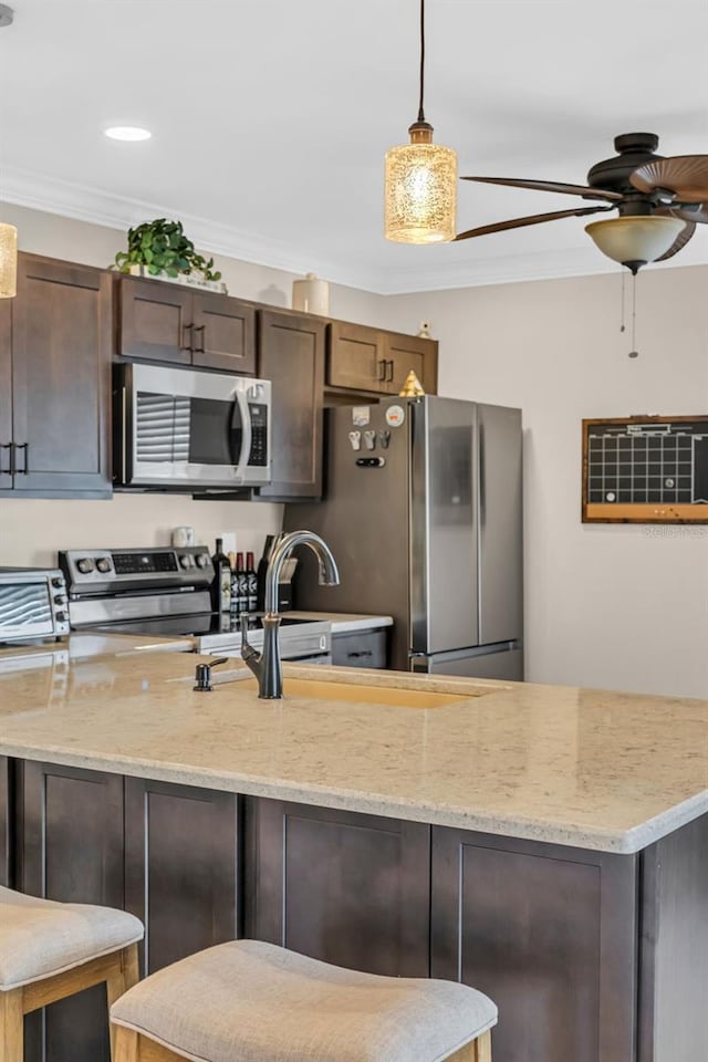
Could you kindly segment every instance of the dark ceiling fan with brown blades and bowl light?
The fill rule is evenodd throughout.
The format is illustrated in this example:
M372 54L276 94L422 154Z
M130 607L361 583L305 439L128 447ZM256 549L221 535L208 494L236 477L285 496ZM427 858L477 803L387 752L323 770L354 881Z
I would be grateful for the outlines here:
M585 231L604 254L633 273L647 262L673 258L688 243L696 225L708 223L708 155L664 158L655 154L659 138L654 133L625 133L615 137L614 143L617 155L595 163L587 174L587 185L513 177L462 177L462 180L489 185L597 199L603 205L482 225L460 232L455 239L469 240L542 221L616 209L618 217L585 226Z

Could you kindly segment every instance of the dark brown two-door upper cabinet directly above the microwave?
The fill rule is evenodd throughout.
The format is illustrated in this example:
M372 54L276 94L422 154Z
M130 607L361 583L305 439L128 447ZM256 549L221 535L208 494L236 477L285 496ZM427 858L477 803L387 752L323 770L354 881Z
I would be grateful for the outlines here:
M123 357L254 375L256 310L250 303L135 277L122 277L118 292Z

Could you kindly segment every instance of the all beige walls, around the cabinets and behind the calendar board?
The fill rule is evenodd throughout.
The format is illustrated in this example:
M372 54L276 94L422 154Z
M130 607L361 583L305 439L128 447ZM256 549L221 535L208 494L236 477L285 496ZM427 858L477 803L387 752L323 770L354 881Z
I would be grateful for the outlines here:
M112 229L4 206L21 246L105 266ZM705 233L699 233L698 238ZM425 250L423 251L425 253ZM292 277L220 259L238 295L290 304ZM405 296L333 287L344 320L440 340L440 393L518 405L525 429L525 622L534 681L708 696L708 527L580 522L583 417L708 413L708 267L647 270L637 346L620 333L620 272ZM0 562L45 563L56 546L167 541L179 523L210 543L260 549L272 504L117 494L110 502L0 502Z

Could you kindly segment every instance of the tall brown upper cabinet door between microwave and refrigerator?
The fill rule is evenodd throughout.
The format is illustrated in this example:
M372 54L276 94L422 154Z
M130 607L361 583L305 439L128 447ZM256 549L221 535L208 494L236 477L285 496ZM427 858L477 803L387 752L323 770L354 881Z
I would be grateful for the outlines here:
M262 498L322 493L324 321L261 313L259 375L272 381L272 483Z

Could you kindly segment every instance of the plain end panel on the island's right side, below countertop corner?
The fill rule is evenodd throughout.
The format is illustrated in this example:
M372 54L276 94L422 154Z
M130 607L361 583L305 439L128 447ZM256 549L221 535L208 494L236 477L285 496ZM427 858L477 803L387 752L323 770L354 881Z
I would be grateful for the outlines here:
M642 853L639 1062L708 1059L708 815Z

